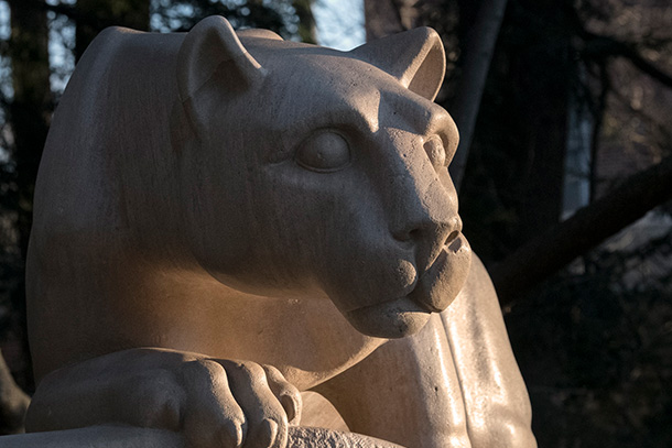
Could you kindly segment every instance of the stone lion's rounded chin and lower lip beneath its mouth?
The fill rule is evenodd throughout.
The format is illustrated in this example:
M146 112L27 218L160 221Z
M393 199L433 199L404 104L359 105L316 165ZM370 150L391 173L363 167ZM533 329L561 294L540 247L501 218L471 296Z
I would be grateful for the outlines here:
M431 313L409 298L398 298L345 313L358 331L376 338L403 338L414 335L430 320Z

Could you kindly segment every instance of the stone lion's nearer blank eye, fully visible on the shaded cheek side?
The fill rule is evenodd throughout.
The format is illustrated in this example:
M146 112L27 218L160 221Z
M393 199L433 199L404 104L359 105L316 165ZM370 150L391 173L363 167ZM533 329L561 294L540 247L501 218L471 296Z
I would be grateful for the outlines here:
M348 142L338 133L322 131L308 136L296 151L296 163L306 170L328 173L350 162Z

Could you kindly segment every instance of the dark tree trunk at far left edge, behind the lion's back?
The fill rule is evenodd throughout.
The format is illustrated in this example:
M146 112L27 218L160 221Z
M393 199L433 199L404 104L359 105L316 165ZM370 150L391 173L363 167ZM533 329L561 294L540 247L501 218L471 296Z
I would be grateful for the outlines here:
M20 278L11 291L12 321L19 335L21 346L28 361L28 368L22 372L22 382L31 387L32 369L28 349L28 332L25 326L25 285L23 282L23 265L28 252L29 234L32 226L33 192L37 166L51 113L53 98L50 86L48 66L48 29L43 0L10 0L11 36L8 56L11 59L13 98L8 105L8 122L11 124L13 147L9 165L13 165L13 185L2 193L8 207L17 211L17 243L21 260ZM3 382L0 379L0 382ZM9 389L1 384L2 392ZM0 397L0 401L6 397Z

